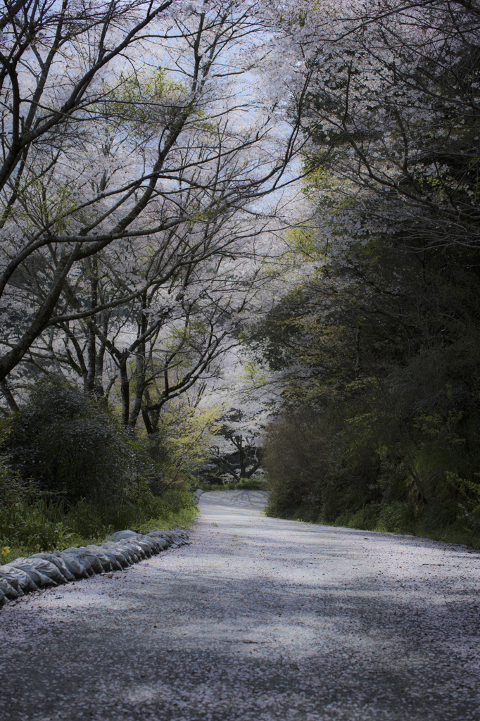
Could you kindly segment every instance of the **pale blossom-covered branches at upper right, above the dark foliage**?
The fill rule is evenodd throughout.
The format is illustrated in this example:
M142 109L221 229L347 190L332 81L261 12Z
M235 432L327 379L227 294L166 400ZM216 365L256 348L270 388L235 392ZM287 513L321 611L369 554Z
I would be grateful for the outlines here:
M306 2L281 18L320 242L478 246L479 13L444 0Z

